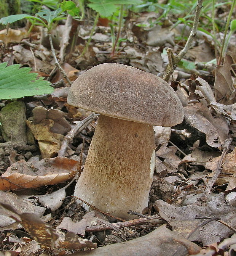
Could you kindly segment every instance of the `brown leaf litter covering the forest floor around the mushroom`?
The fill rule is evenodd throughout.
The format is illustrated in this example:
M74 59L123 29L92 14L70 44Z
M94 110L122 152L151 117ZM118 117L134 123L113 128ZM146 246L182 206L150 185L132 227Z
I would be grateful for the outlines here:
M96 28L83 58L78 58L90 30L80 25L74 53L66 56L62 64L70 81L89 67L105 62L128 64L162 75L168 62L163 49L175 45L174 53L179 52L181 42L176 44L175 37L182 35L182 28L176 26L169 30L159 25L150 31L137 28L140 21L147 23L150 18L147 15L151 19L157 18L156 13L140 13L140 17L132 21L132 29L123 31L130 42L121 42L120 54L114 58L109 56L110 28L102 26ZM11 57L14 63L27 65L49 77L54 67L52 56L47 45L43 43L42 46L35 36L39 33L37 29L31 32L30 40L24 39L32 43L31 50L26 42L19 41L19 36L25 37L24 31L10 30L9 37L1 40L5 40L5 45L15 43ZM156 37L156 33L160 36ZM19 35L18 40L16 35ZM68 197L73 195L75 182L72 179L77 179L77 173L83 170L81 165L86 159L97 117L89 119L80 132L73 134L74 128L81 123L72 122L83 122L90 113L66 103L69 85L61 73L57 71L51 82L64 79L62 87L50 95L22 100L26 105L29 129L21 130L21 133L27 138L28 145L36 150L27 150L24 145L19 150L19 146L11 144L11 139L0 137L0 189L14 192L0 193L3 237L0 246L3 251L10 250L10 255L38 255L46 248L57 255L58 250L66 254L77 250L72 255L78 256L87 254L86 250L90 255L130 256L227 255L228 251L228 255L233 255L236 251L233 235L236 229L235 56L232 51L228 52L223 64L216 68L199 63L212 60L214 54L210 51L211 38L200 31L198 36L183 65L174 73L178 80L171 82L184 106L185 119L172 129L154 127L156 172L149 207L132 221L114 222L96 210L85 213L73 197ZM147 45L139 47L137 42ZM195 59L199 51L204 51L205 56ZM9 48L5 48L2 62L12 61L9 53ZM198 69L201 65L205 65L204 68ZM8 102L2 103L3 109ZM14 129L17 126L13 125ZM71 128L73 135L67 140L65 134ZM1 132L3 136L2 129ZM233 141L223 158L221 173L212 192L206 194L205 189L222 160L222 149L228 138ZM13 154L13 151L16 152ZM60 157L56 157L57 154ZM23 235L18 235L18 231ZM90 250L96 246L99 248ZM81 251L81 248L87 249Z

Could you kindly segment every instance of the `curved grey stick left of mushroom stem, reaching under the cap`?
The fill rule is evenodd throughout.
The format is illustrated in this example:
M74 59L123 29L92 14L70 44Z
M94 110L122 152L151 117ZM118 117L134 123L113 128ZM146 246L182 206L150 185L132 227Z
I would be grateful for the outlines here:
M98 114L92 113L83 121L80 121L75 127L73 127L72 130L70 130L70 132L68 132L67 135L65 135L64 140L62 141L62 144L61 144L61 149L58 151L58 156L61 156L61 157L65 156L65 151L67 150L68 145L72 142L75 134L85 129L85 127L88 126L93 121L93 119L96 118L96 116L98 116Z

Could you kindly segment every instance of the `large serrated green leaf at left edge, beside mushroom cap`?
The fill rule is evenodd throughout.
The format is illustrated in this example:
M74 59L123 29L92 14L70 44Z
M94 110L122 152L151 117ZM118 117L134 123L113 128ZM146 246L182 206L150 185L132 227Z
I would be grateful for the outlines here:
M50 82L37 78L37 73L30 73L31 68L20 68L20 64L6 66L0 64L0 99L22 98L53 92Z

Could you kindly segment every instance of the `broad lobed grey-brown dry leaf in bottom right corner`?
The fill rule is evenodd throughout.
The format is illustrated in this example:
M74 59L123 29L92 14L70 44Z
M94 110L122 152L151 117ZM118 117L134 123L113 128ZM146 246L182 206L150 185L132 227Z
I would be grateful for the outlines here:
M223 193L210 194L210 201L207 203L201 202L202 206L199 202L201 201L182 207L167 204L162 200L157 200L155 204L159 209L160 216L169 222L173 230L191 241L199 241L203 242L203 245L209 245L228 237L232 230L217 221L212 221L193 233L197 225L207 220L196 219L196 216L218 217L236 228L235 207L225 203Z

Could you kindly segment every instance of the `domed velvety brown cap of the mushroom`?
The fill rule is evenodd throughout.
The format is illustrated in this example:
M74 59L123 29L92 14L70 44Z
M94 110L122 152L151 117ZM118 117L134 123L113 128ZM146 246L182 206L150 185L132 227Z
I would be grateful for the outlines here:
M73 82L67 102L86 110L155 126L183 120L182 104L163 79L118 63L94 66Z

